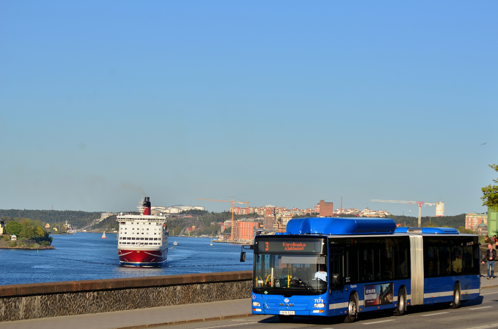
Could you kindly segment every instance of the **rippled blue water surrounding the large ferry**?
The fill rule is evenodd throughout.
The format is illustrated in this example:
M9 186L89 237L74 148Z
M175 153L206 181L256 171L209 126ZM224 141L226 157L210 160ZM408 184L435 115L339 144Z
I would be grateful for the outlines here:
M252 269L252 250L240 262L240 245L215 243L210 239L169 237L166 266L135 268L120 266L115 234L78 233L54 235L55 250L0 249L0 285L125 278ZM178 246L173 247L174 241Z

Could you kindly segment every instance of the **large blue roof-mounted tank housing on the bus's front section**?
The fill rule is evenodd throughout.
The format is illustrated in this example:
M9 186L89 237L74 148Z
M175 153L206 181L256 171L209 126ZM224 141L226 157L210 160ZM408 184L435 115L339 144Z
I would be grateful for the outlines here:
M309 217L291 219L287 223L287 234L393 234L395 228L392 219Z

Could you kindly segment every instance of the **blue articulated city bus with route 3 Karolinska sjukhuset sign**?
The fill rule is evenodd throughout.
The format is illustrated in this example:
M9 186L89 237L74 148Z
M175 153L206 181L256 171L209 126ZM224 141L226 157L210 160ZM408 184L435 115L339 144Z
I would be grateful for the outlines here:
M244 257L245 258L245 257ZM242 260L242 259L241 259ZM299 218L254 238L252 314L343 316L451 303L480 294L479 242L452 228L390 219Z

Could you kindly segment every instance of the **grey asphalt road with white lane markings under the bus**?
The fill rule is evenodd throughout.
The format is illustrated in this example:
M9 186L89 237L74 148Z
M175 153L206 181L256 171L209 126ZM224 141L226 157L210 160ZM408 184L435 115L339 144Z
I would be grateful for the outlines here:
M359 321L353 324L341 323L339 319L294 318L292 323L283 324L276 316L253 316L240 319L227 319L204 323L191 323L175 326L163 326L163 329L252 329L252 328L317 328L317 329L487 329L498 328L498 288L483 289L481 297L462 303L460 309L448 308L447 304L436 306L415 306L408 309L408 314L394 317L386 313L360 314ZM368 326L368 327L365 327Z

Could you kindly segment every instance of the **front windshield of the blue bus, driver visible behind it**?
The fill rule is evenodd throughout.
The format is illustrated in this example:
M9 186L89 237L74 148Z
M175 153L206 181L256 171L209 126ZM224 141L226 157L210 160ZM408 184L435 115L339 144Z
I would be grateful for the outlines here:
M313 295L327 290L327 256L325 254L255 254L254 292Z

